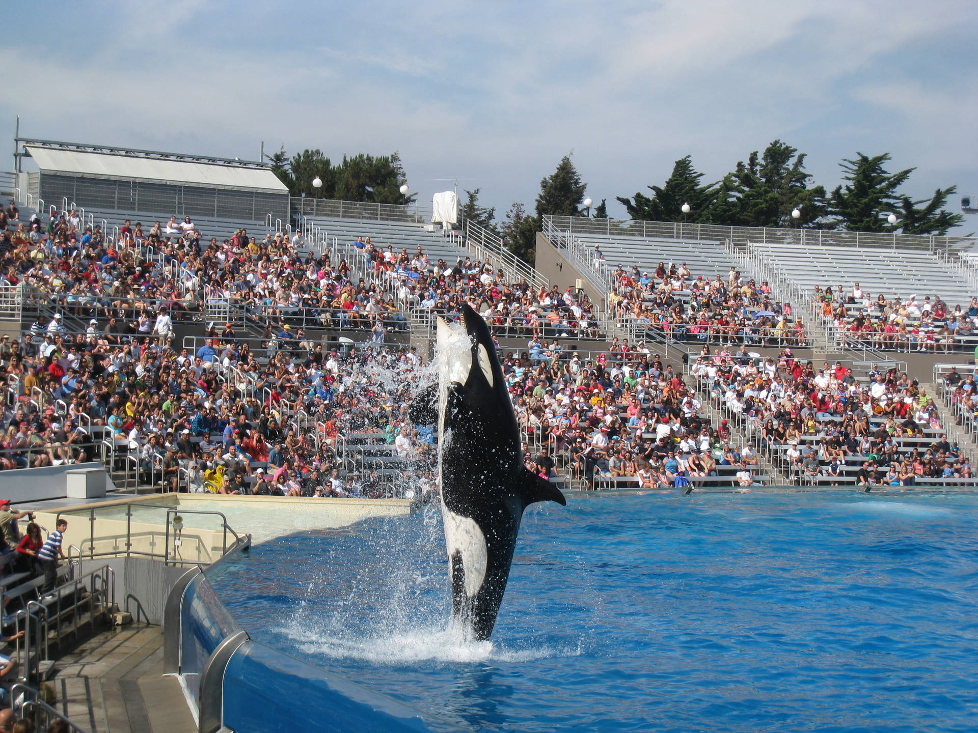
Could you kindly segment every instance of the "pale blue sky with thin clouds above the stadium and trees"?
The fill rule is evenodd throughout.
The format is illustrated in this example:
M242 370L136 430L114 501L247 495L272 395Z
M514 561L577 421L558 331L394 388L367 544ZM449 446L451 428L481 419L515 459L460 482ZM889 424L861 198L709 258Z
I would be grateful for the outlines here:
M498 217L532 209L567 153L624 216L615 196L661 185L677 158L714 181L775 139L828 189L860 151L915 166L907 194L978 194L973 0L137 0L78 2L70 22L41 0L5 15L12 136L20 114L22 135L77 143L398 151L420 198L459 178Z

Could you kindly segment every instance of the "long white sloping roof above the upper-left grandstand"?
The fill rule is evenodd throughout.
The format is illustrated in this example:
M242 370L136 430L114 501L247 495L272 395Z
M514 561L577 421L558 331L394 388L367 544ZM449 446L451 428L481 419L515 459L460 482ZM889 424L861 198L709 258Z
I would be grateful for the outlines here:
M107 152L68 151L24 146L37 167L51 173L165 181L194 186L219 186L287 193L288 187L268 168L114 155Z

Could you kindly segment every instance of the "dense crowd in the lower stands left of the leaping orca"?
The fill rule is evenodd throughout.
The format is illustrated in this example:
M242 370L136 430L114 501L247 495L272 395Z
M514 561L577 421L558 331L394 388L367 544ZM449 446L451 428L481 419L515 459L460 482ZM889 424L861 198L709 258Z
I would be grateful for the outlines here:
M0 466L131 456L144 480L222 494L378 496L369 475L336 481L335 436L378 430L393 444L421 366L414 349L339 353L311 342L261 359L220 338L196 353L161 337L44 343L28 354L18 339L0 341Z

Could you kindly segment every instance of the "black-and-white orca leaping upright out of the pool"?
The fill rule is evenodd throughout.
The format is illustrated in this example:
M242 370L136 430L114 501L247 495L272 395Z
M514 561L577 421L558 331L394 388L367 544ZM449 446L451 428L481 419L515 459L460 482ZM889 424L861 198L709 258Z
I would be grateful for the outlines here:
M482 641L503 602L523 510L534 501L567 501L523 465L495 344L467 305L461 323L438 319L436 357L438 383L422 392L409 417L420 425L437 420L452 617Z

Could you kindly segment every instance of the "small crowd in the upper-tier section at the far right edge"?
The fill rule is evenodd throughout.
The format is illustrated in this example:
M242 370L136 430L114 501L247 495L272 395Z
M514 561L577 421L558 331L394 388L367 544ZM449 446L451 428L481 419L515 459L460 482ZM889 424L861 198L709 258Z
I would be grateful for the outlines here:
M850 343L893 351L971 351L978 346L978 298L954 308L939 295L922 300L872 297L859 282L852 287L816 287L822 318L831 321Z

